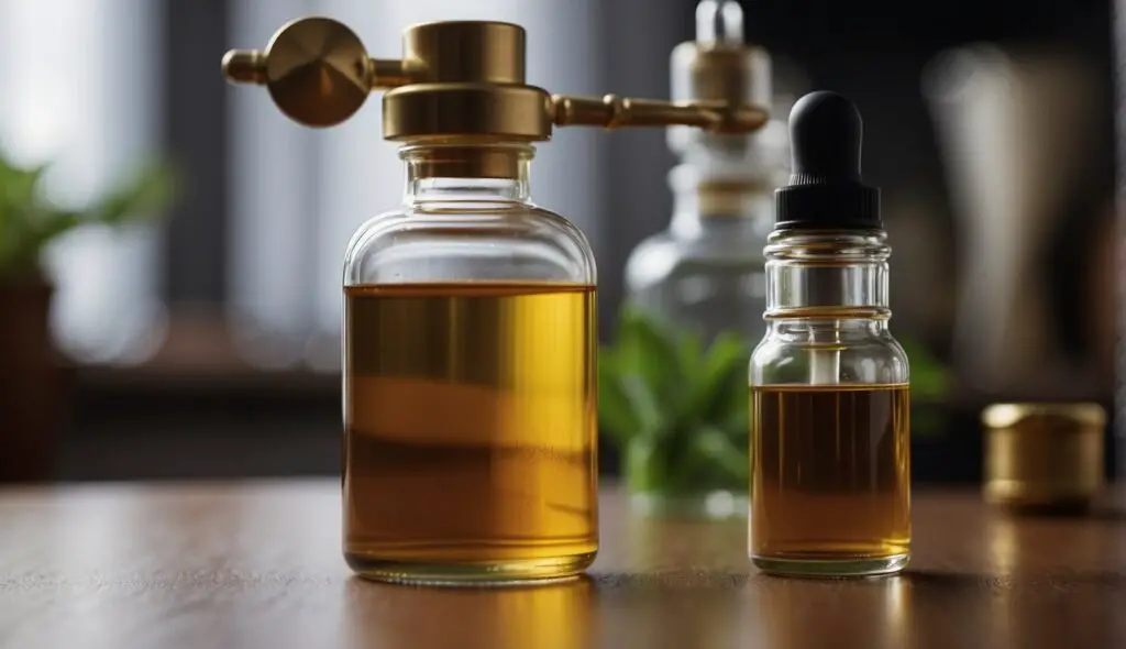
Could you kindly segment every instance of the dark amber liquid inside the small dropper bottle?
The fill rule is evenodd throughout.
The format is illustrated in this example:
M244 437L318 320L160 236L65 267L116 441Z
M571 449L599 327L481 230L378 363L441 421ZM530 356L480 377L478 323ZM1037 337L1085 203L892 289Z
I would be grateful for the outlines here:
M752 389L751 557L763 570L876 575L909 558L910 390Z

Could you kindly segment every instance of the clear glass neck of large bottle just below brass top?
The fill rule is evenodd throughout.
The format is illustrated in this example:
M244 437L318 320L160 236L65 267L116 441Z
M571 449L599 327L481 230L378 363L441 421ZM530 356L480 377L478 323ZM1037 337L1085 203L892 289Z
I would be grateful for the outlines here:
M528 203L534 150L527 144L403 146L403 201L417 203Z

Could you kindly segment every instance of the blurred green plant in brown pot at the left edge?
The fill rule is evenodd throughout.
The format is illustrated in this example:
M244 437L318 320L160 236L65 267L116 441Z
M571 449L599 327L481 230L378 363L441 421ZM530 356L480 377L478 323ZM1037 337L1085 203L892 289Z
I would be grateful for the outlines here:
M100 199L61 206L43 189L46 166L18 167L0 152L0 482L51 477L63 409L50 331L47 246L86 224L119 226L169 204L169 165L146 165Z

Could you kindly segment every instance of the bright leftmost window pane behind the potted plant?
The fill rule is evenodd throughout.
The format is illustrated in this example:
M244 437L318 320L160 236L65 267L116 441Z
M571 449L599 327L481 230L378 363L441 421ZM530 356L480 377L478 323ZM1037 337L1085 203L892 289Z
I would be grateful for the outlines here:
M160 3L0 2L0 148L50 162L52 197L80 204L159 145ZM86 228L46 255L61 347L89 362L137 361L159 345L159 232Z

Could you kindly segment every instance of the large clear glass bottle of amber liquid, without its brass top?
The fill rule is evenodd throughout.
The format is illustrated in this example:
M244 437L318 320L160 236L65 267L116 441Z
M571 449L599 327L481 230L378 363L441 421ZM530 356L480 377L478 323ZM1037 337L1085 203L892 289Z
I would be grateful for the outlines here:
M404 207L348 247L345 555L361 574L555 577L593 560L595 259L531 204L531 154L404 146Z

